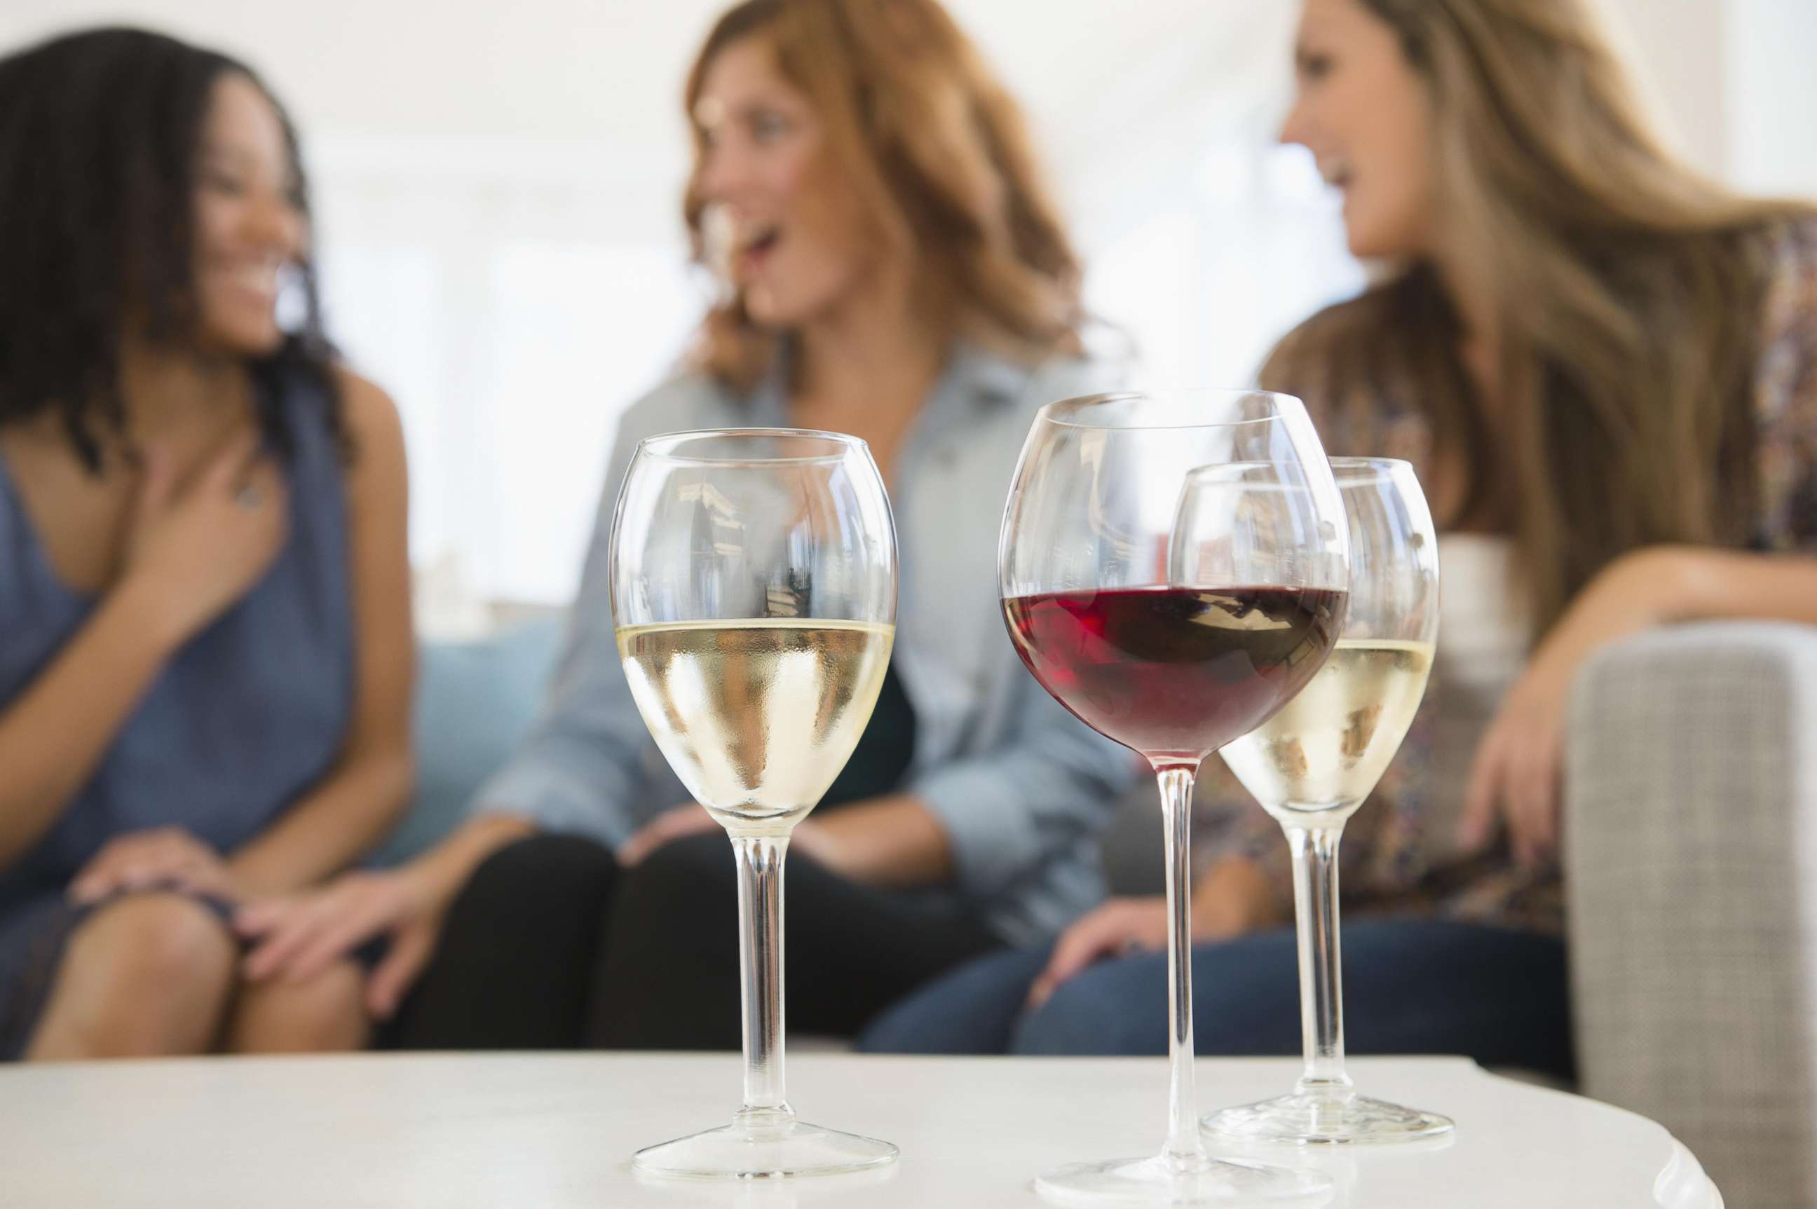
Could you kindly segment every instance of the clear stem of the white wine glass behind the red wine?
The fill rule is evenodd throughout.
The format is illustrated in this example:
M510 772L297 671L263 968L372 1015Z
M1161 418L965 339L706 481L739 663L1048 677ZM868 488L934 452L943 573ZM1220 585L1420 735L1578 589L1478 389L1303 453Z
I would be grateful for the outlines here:
M1285 826L1285 824L1283 824ZM1345 982L1337 939L1337 844L1332 826L1285 826L1294 853L1294 922L1299 931L1299 1031L1306 1051L1301 1093L1346 1091Z

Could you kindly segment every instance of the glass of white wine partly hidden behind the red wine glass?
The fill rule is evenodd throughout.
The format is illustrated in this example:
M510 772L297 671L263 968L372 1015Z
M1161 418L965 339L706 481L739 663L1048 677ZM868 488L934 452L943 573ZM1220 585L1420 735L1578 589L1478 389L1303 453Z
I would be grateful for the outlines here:
M1408 463L1330 461L1350 523L1345 628L1325 666L1285 710L1219 752L1286 831L1294 855L1306 1066L1292 1095L1212 1113L1205 1129L1288 1145L1419 1142L1450 1135L1450 1118L1357 1095L1345 1073L1337 842L1394 761L1426 693L1439 632L1439 550ZM1194 472L1181 530L1197 528L1194 516L1243 506L1261 474L1245 467Z

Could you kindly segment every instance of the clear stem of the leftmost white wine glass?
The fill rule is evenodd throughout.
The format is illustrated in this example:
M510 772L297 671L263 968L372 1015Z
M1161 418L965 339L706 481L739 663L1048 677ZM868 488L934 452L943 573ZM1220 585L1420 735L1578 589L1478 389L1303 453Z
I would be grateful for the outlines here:
M789 837L734 835L738 969L745 1009L745 1104L740 1118L794 1116L783 1091L783 857Z

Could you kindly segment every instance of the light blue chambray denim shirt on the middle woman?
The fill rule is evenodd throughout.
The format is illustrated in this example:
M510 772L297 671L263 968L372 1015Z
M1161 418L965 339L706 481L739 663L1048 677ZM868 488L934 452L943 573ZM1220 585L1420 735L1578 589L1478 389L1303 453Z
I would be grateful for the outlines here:
M1036 369L954 347L896 468L896 672L916 712L905 791L939 819L947 897L1012 944L1063 928L1103 893L1097 833L1136 775L1021 666L998 603L998 523L1034 412L1114 387L1099 363ZM787 425L781 378L738 398L683 376L620 421L567 648L543 715L472 813L514 813L616 846L687 790L650 741L612 635L607 543L638 441L661 432Z

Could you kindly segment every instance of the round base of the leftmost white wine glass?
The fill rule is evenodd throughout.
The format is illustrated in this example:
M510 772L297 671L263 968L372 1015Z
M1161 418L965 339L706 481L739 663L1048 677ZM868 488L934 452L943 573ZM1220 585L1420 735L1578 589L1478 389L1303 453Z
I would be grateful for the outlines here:
M781 1180L874 1171L896 1162L896 1147L801 1120L738 1122L638 1151L643 1175L683 1180Z

